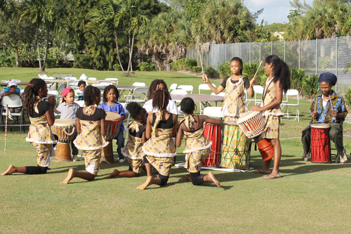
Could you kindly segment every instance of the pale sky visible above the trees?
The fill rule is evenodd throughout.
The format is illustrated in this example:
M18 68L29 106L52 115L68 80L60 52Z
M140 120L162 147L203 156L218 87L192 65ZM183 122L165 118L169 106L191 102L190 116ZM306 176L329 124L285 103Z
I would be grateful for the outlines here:
M312 6L313 0L305 1L306 4ZM289 22L289 10L293 9L289 4L289 0L244 0L244 6L249 8L251 13L263 8L263 13L258 16L257 23L265 20L269 25L273 22Z

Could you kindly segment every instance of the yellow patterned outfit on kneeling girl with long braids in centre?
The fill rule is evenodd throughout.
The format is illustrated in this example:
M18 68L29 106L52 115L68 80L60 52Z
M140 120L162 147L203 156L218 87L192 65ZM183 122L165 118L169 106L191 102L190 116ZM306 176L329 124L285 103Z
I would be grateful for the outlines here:
M152 126L151 138L143 145L143 151L152 167L159 171L162 176L171 174L172 158L177 155L176 145L173 141L173 127L171 129L157 128L161 121L163 111L158 110L154 126ZM172 114L171 114L172 115Z

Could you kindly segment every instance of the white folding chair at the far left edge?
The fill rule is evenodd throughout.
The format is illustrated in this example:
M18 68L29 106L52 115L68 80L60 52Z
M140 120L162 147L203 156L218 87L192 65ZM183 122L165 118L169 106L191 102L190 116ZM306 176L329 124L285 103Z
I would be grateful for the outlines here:
M6 105L8 106L8 108L13 108L13 109L20 108L20 107L22 107L22 99L17 94L10 94L8 96L2 97L1 105L3 106L3 108L1 110L0 122L4 124L4 122L2 121L2 118L4 117L4 115L6 115ZM18 117L20 117L20 132L21 132L22 131L22 119L25 119L23 116L23 108L21 109L21 111L19 113L15 113L15 112L11 113L11 116L15 116L17 118L17 120L15 120L15 122L13 124L18 122ZM11 131L12 131L12 126L11 126Z

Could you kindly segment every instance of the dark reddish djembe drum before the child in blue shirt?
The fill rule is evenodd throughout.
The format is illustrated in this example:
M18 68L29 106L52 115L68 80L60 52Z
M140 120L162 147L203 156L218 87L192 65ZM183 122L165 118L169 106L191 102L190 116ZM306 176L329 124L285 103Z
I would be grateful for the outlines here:
M121 127L122 118L121 115L115 112L106 112L107 115L105 117L105 131L106 136L105 140L108 142L101 150L101 159L100 163L114 163L113 157L113 146L112 140L116 138L119 133L119 128Z

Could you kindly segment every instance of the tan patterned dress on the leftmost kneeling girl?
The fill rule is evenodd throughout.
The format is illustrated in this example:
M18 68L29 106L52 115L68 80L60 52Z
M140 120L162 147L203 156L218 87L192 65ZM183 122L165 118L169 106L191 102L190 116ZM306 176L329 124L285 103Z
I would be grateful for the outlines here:
M37 108L34 108L34 110L39 112ZM37 164L40 167L48 167L50 166L50 157L56 156L53 144L57 141L53 137L50 126L48 126L48 119L46 119L45 114L37 118L29 117L29 119L29 131L25 141L32 143L34 148L37 149Z

